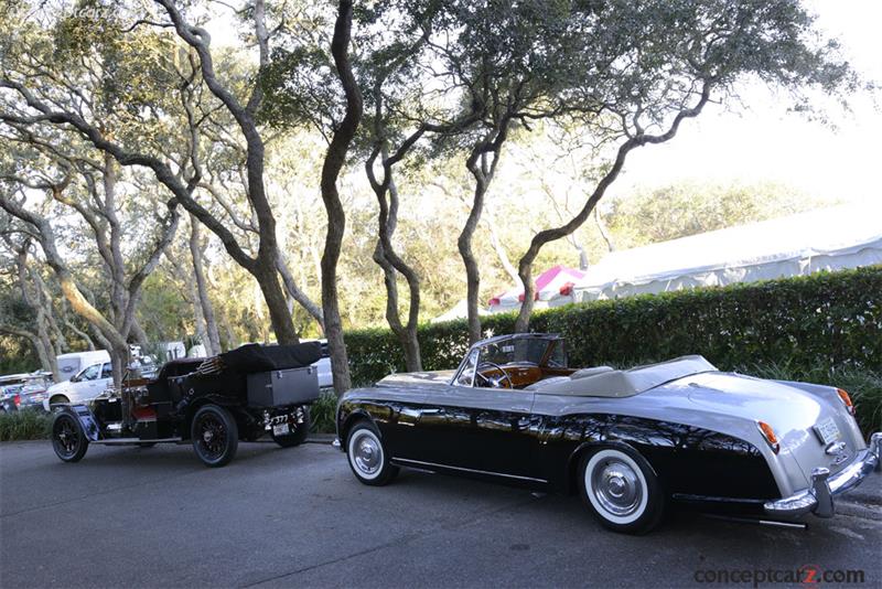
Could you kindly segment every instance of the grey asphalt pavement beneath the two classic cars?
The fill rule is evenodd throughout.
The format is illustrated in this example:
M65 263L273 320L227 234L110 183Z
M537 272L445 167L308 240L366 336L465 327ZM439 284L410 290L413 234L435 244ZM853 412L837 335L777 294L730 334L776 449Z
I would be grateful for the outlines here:
M808 531L678 514L630 537L576 497L417 471L364 486L326 445L243 443L206 469L186 446L64 464L47 442L0 443L0 586L700 587L814 565L880 587L878 510Z

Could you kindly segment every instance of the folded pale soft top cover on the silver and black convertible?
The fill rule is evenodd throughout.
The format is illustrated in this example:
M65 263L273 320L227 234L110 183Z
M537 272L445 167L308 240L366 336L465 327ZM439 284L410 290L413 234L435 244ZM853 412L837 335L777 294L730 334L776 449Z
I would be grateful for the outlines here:
M614 371L606 366L583 368L569 378L549 378L529 388L538 395L633 397L658 385L711 371L717 371L717 367L702 356L682 356L628 371Z

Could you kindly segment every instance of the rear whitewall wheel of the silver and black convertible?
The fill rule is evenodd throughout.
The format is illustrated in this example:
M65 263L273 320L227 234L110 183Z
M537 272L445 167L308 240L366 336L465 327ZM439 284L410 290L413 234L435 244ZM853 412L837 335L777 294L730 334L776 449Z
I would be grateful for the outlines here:
M579 461L579 490L600 523L625 534L645 534L662 521L665 496L639 452L603 447Z

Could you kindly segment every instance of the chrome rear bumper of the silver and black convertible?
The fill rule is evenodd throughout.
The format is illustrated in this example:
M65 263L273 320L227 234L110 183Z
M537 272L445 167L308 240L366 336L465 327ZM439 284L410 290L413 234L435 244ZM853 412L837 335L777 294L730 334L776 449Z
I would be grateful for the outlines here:
M871 472L882 470L882 432L870 436L870 445L858 452L851 463L830 476L830 471L817 468L811 471L811 488L789 497L766 502L763 507L770 515L796 516L814 513L818 517L832 517L833 495L853 489Z

